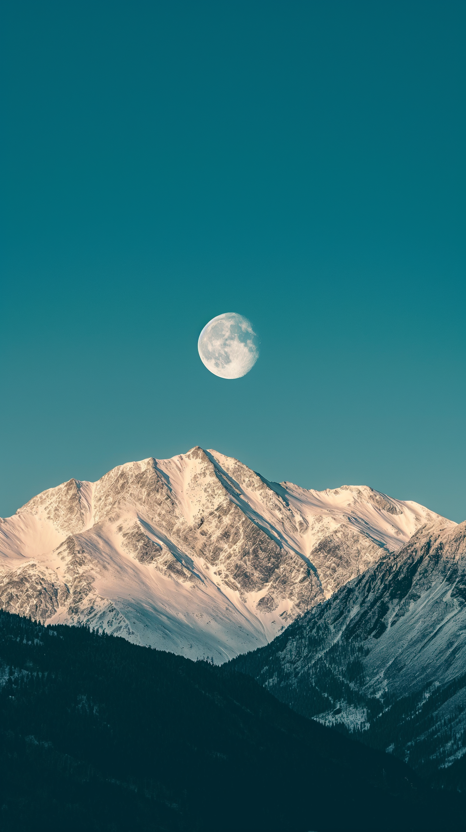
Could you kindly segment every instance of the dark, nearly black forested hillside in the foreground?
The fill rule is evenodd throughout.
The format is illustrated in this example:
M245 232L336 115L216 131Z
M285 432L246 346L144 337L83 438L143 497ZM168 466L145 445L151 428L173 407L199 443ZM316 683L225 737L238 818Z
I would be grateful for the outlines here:
M0 613L3 830L459 829L459 795L250 677Z

